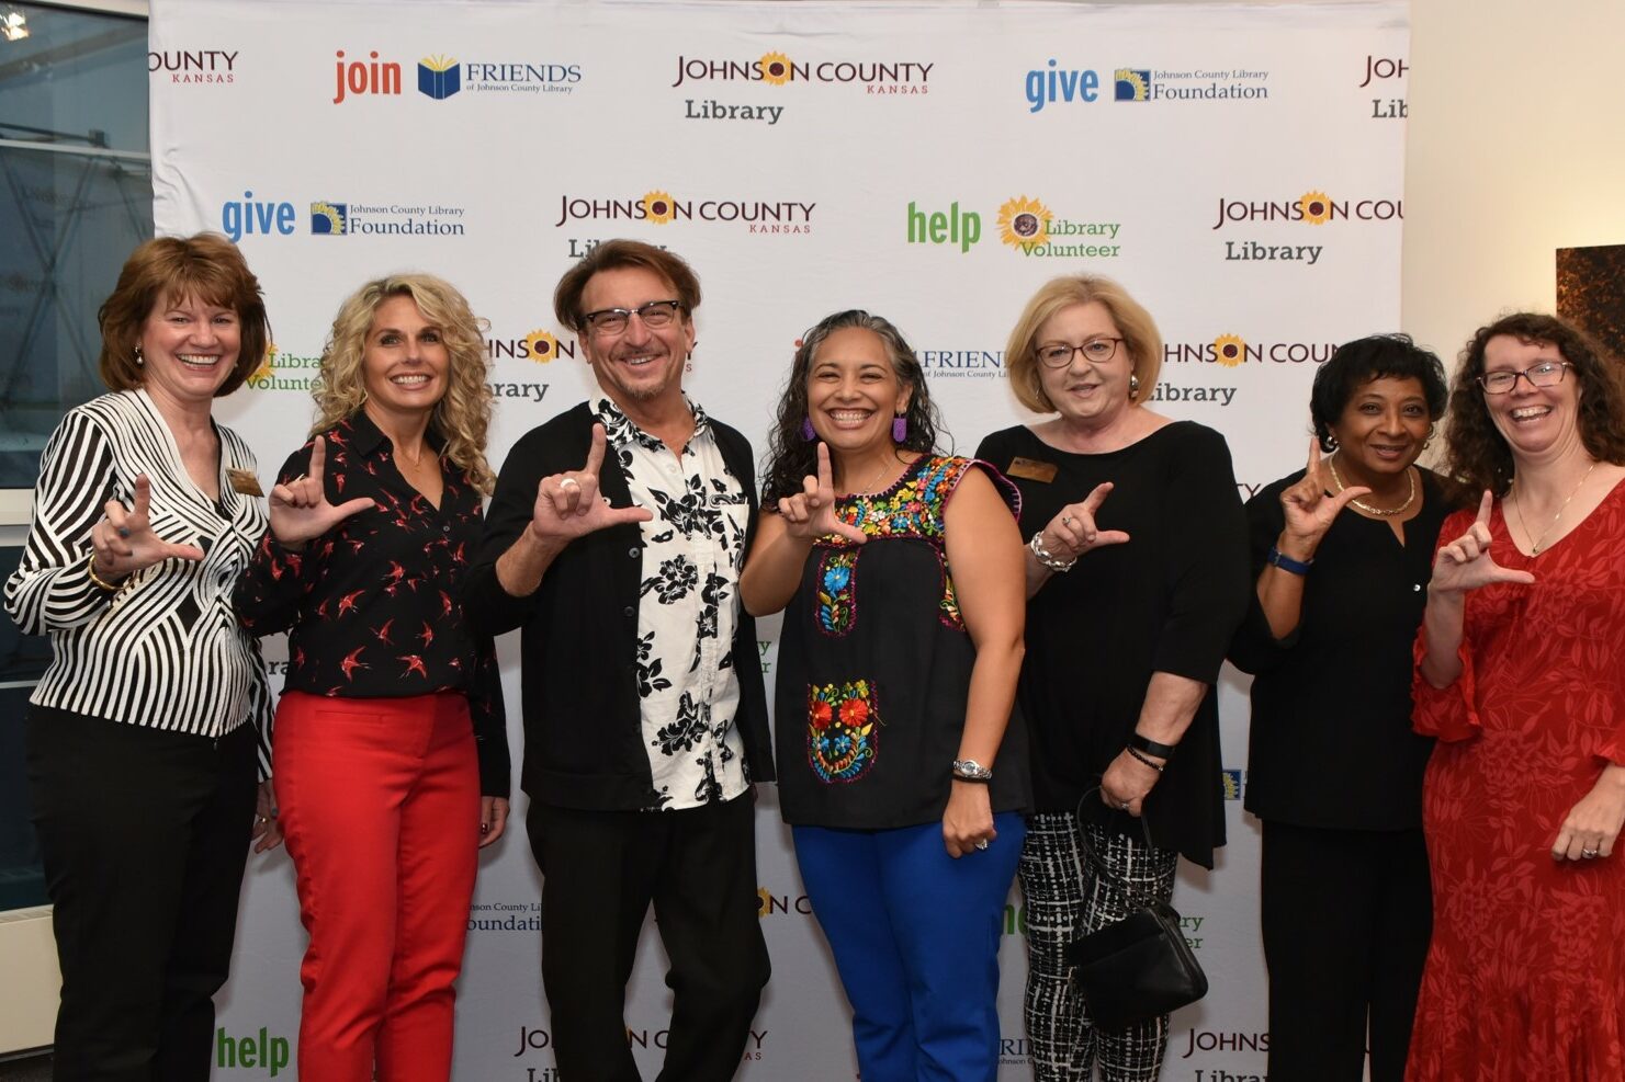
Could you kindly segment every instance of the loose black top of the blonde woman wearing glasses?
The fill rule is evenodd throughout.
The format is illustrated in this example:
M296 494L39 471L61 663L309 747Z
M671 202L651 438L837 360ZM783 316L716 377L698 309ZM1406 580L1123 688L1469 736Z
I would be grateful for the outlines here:
M1032 734L1034 803L1072 811L1123 751L1152 673L1219 679L1230 635L1246 612L1246 522L1224 437L1191 421L1167 424L1116 452L1074 455L1025 427L994 432L978 458L1011 473L1030 538L1097 484L1116 487L1097 515L1129 541L1086 554L1027 601L1020 708ZM1011 463L1056 468L1051 481ZM1146 798L1152 842L1212 868L1224 845L1219 703L1212 687L1167 773ZM1133 817L1098 799L1084 814L1139 837Z

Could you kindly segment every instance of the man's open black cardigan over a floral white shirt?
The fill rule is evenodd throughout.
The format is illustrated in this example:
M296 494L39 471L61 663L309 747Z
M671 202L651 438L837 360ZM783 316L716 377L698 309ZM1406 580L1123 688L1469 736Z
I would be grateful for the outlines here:
M595 421L593 411L582 403L531 429L509 452L465 601L491 634L523 629L525 764L520 786L533 801L559 807L640 811L658 806L660 794L644 749L637 690L637 606L644 582L639 523L570 541L526 598L507 593L496 573L497 557L530 526L541 479L580 470L587 461ZM715 418L710 429L728 473L749 497L749 551L756 531L751 444ZM632 504L626 473L614 455L604 455L598 491L614 507ZM743 609L733 658L739 676L734 725L744 742L746 765L756 781L772 781L756 621Z

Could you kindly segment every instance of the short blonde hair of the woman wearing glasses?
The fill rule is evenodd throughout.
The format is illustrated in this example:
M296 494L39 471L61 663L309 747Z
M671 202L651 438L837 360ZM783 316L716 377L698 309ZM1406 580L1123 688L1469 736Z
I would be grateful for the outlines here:
M1038 328L1060 312L1074 304L1102 304L1123 335L1123 346L1128 349L1133 372L1139 377L1139 390L1134 401L1149 401L1157 390L1157 375L1162 372L1162 331L1150 318L1139 301L1128 296L1118 283L1098 275L1069 275L1046 281L1032 296L1016 330L1011 331L1004 346L1004 369L1009 372L1011 388L1017 401L1034 413L1055 413L1055 403L1043 393L1043 379L1038 370Z

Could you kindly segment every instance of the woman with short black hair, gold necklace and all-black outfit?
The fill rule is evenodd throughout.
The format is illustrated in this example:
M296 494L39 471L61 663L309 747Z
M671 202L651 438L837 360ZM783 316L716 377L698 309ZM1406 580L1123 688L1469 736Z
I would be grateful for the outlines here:
M1415 460L1445 398L1409 338L1347 343L1315 375L1308 466L1246 505L1258 585L1230 660L1254 674L1271 1077L1357 1082L1367 1048L1373 1082L1404 1074L1432 921L1410 645L1453 510Z

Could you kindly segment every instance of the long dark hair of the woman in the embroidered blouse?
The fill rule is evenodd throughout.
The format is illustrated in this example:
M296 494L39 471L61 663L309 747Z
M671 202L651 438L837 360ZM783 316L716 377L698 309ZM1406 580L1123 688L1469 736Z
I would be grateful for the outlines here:
M767 470L762 476L762 502L775 502L801 491L803 479L817 468L817 442L806 439L801 426L808 419L808 374L824 340L838 330L858 327L874 331L892 361L897 382L908 388L908 435L897 450L931 453L936 450L936 431L941 426L931 395L925 387L925 369L890 320L869 315L861 309L835 312L819 320L801 336L795 359L790 362L790 379L778 396L778 416L767 440Z

